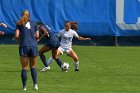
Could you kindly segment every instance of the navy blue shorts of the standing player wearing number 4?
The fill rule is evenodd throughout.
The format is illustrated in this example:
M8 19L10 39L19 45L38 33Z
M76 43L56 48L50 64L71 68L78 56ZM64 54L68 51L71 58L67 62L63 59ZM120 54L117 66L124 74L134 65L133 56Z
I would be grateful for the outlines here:
M37 47L27 47L27 46L20 46L19 47L19 55L20 56L27 56L27 57L36 57L38 56L38 48Z

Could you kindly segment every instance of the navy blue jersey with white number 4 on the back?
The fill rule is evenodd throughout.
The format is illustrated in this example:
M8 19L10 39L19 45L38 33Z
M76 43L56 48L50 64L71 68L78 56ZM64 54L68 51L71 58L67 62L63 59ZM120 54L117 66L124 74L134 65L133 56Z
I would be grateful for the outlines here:
M37 40L34 34L39 29L35 22L29 21L25 25L17 26L16 29L20 31L20 46L37 47Z

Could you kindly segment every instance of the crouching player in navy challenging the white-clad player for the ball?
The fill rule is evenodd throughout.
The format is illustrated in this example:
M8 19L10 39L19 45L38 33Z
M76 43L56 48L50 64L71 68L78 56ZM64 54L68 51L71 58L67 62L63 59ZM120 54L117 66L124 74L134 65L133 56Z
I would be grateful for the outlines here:
M41 71L46 71L50 69L46 62L46 57L44 55L45 52L48 52L52 50L52 57L55 59L59 67L63 65L60 58L57 56L57 51L60 46L58 38L55 36L55 34L51 31L51 28L47 25L43 25L42 23L38 23L39 30L42 32L42 36L38 39L40 41L43 37L46 39L46 44L39 50L39 56L44 64L44 68Z

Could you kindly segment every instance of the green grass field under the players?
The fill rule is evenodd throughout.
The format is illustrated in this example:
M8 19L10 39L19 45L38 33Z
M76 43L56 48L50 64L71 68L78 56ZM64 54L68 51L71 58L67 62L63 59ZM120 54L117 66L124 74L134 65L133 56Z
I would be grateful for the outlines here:
M56 62L51 70L42 73L43 64L38 57L39 90L33 90L28 71L25 92L21 86L18 46L0 45L0 93L140 93L140 47L74 46L73 49L79 56L80 72L75 72L73 60L63 55L61 59L70 64L67 73L61 72Z

